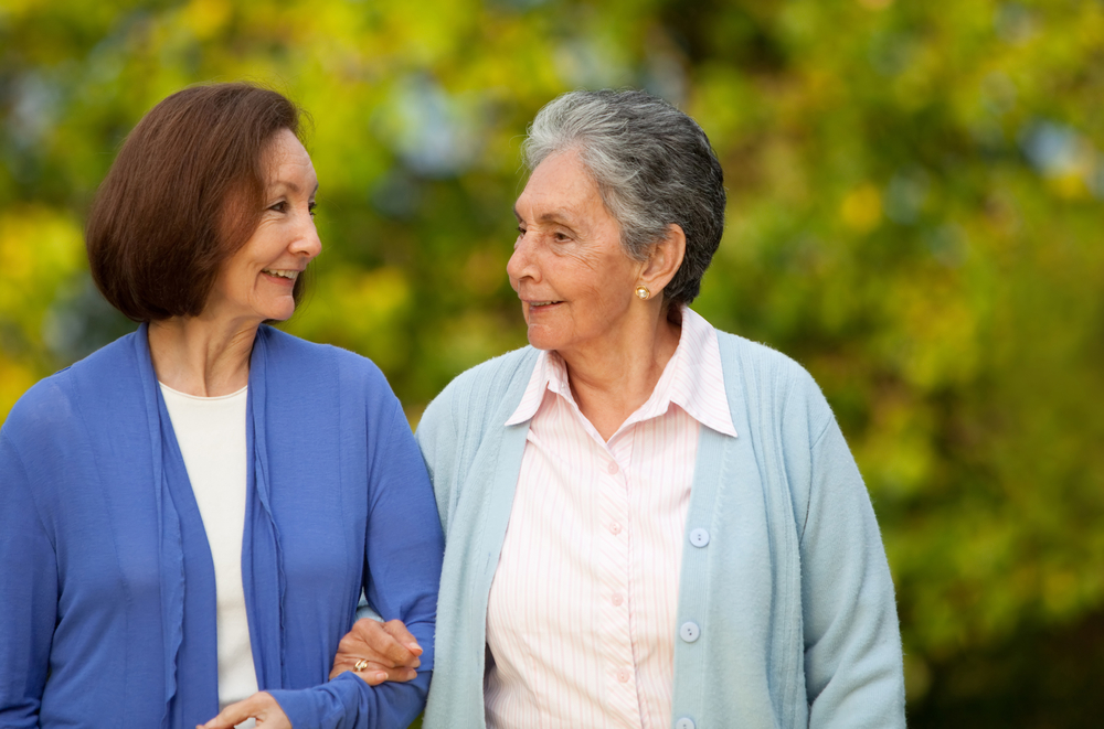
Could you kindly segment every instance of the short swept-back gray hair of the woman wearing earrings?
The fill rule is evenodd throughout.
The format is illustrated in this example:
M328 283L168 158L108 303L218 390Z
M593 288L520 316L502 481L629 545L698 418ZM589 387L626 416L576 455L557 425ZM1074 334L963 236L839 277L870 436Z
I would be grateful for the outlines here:
M597 183L629 257L647 259L668 225L681 226L686 255L664 296L693 301L724 231L724 175L701 127L645 92L571 92L540 110L522 153L532 171L567 150Z

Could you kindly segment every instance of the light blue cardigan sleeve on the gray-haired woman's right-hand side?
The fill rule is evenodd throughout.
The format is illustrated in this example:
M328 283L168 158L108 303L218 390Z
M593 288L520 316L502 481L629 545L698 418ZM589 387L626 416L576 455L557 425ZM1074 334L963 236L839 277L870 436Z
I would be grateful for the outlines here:
M824 403L819 389L815 397ZM904 727L901 633L885 550L854 459L827 403L822 408L827 422L810 449L800 532L809 727Z

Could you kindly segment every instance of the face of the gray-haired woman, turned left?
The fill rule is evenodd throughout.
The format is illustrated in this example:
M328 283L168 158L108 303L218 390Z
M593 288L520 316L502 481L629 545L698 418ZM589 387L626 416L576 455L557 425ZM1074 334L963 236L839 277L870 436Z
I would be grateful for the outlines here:
M521 299L529 343L570 357L616 346L643 264L573 150L549 157L514 205L518 240L506 270Z

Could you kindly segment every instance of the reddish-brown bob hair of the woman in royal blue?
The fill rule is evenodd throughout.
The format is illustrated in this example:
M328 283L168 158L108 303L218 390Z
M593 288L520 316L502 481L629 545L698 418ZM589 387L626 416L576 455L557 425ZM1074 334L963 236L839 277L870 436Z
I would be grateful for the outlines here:
M302 116L282 94L238 83L185 88L150 109L88 214L88 264L104 298L135 321L198 315L261 222L275 136L300 137Z

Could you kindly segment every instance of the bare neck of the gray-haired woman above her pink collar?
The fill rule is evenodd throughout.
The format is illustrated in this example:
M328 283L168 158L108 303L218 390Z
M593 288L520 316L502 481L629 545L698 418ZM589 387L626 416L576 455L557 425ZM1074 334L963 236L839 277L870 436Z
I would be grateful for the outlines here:
M603 440L651 397L680 335L680 324L660 314L628 323L615 342L560 352L572 396Z

